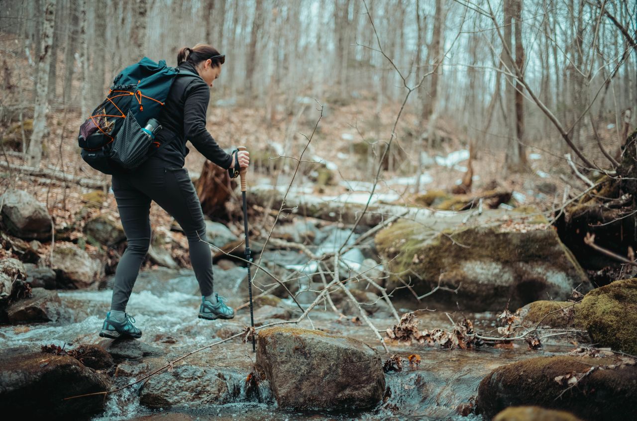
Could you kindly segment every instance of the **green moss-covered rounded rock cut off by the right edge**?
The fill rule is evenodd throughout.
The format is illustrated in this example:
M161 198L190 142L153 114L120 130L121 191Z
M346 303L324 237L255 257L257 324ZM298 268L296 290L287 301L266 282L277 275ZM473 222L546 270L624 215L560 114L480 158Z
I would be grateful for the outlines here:
M578 318L598 346L637 354L637 278L590 291L582 300Z

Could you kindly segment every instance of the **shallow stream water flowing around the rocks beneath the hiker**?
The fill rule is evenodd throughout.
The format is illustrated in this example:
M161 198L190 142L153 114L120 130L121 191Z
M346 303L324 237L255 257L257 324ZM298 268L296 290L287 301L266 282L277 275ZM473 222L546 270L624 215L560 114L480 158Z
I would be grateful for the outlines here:
M238 306L243 302L239 297L247 296L241 283L245 269L234 268L222 271L215 268L215 290L229 297L229 305ZM127 311L136 319L136 325L143 329L142 341L161 348L163 361L174 359L201 346L218 341L217 332L225 328L241 332L249 325L247 308L239 311L230 321L209 321L196 317L200 296L192 271L180 269L153 269L140 274L135 285ZM67 349L81 343L99 343L97 332L101 328L108 310L111 290L68 290L59 291L66 318L63 322L45 324L23 324L0 326L0 340L4 347L51 344L66 346ZM400 310L408 311L411 304L399 303ZM401 305L399 305L401 306ZM399 307L397 306L397 308ZM297 309L298 310L298 309ZM326 311L327 310L327 311ZM399 310L399 311L400 311ZM466 315L475 320L477 331L489 331L494 326L493 313ZM420 329L441 327L448 329L450 322L442 311L424 311L419 315ZM357 325L350 320L338 320L329 308L317 308L311 313L311 321L316 327L338 334L352 336L368 343L386 360L378 339L366 325ZM256 322L262 322L256 320ZM374 318L379 331L394 325L393 318ZM310 328L304 320L301 327ZM384 336L382 334L382 336ZM234 401L224 405L206 408L178 408L151 411L139 403L138 389L129 388L124 392L111 394L104 413L95 420L130 419L171 419L171 420L478 420L480 417L459 415L459 407L469 404L477 395L480 380L492 369L517 360L538 357L551 353L564 353L566 346L545 345L541 350L528 350L526 343L513 349L496 349L484 346L478 350L442 350L427 346L390 346L390 353L406 357L417 353L422 358L418 367L404 364L403 371L389 372L385 380L389 390L385 403L364 413L297 413L283 411L273 403L259 403L248 397L245 385L238 382ZM156 359L155 359L156 360ZM254 362L252 346L233 339L196 353L185 360L188 364L211 364L247 373ZM150 366L148 366L150 369ZM143 370L141 371L144 372ZM115 385L124 385L133 378L117 378ZM176 384L175 388L180 385ZM241 389L243 388L243 389ZM241 390L239 390L241 389ZM267 392L264 392L267 394ZM263 401L264 399L262 399ZM265 399L267 401L267 399ZM151 417L152 415L152 417ZM167 417L170 415L170 417ZM150 417L150 418L147 418Z

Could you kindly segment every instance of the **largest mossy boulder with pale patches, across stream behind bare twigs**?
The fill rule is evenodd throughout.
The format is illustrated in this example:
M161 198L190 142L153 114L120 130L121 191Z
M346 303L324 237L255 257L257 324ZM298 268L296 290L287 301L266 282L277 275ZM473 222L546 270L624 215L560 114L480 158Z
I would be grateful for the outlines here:
M507 304L517 308L547 296L566 300L576 287L582 293L592 288L544 218L515 222L506 215L502 218L499 210L476 215L471 225L462 223L465 218L452 213L429 222L397 222L380 231L376 248L396 274L389 289L411 282L422 295L440 282L443 287L459 287L457 294L439 290L427 299L454 306L457 301L462 310L485 311Z

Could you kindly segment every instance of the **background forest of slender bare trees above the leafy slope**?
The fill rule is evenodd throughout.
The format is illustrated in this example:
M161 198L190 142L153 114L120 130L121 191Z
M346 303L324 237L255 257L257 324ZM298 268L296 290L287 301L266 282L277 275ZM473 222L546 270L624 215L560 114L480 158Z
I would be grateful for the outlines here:
M88 116L125 66L175 66L179 48L205 42L226 55L214 101L257 106L266 121L299 96L373 99L380 112L426 76L406 104L415 139L432 146L427 125L446 119L515 167L538 141L582 148L592 125L619 147L637 97L636 16L622 0L2 0L0 111L33 113L37 146L48 110Z

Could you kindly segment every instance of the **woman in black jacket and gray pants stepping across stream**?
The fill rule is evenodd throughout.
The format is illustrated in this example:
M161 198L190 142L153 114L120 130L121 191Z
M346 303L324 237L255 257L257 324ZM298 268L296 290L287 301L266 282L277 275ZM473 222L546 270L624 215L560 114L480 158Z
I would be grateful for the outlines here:
M225 153L206 130L210 89L219 77L224 61L225 55L210 45L199 44L180 50L178 68L194 75L179 76L171 86L158 118L163 129L155 140L161 147L134 172L113 175L113 193L128 247L115 271L111 311L106 313L99 336L141 336L140 329L134 326L134 318L126 313L126 304L150 245L150 201L155 201L172 215L188 238L190 262L202 295L199 317L209 320L234 317L234 310L225 305L224 297L213 295L210 246L201 241L206 238L206 225L199 197L188 171L183 168L189 152L187 140L206 159L222 168L245 168L250 163L247 151L233 155Z

